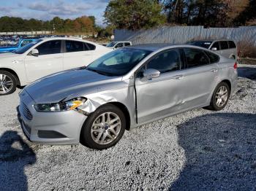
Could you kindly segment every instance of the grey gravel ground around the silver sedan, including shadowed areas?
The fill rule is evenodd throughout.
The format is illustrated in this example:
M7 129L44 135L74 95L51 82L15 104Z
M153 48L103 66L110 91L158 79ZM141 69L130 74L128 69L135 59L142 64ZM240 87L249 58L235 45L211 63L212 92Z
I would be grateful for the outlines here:
M110 149L26 140L18 91L0 97L0 190L256 190L256 67L220 112L194 109L126 132Z

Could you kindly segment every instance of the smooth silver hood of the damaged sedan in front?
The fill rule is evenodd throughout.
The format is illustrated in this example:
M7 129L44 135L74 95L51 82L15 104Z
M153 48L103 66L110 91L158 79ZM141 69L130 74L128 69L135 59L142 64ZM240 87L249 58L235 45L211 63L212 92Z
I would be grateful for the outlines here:
M24 89L37 104L59 103L86 93L94 93L97 87L113 78L86 69L73 69L38 79Z

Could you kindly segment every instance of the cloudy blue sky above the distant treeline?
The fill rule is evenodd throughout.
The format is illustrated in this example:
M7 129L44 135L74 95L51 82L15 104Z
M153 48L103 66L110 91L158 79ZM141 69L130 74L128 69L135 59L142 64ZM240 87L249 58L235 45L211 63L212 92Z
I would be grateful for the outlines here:
M0 0L0 17L35 18L51 20L53 17L74 19L93 15L99 26L109 0Z

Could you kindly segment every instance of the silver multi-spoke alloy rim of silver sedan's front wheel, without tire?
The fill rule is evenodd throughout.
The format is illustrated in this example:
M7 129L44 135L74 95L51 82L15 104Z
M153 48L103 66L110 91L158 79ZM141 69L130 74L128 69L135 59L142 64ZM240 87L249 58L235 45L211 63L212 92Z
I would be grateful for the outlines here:
M97 144L110 144L121 131L121 120L113 112L100 114L91 126L91 137Z

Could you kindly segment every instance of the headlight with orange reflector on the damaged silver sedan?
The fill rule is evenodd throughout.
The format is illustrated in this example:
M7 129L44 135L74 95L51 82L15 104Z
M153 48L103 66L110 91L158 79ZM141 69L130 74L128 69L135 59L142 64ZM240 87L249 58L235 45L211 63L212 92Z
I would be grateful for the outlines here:
M85 102L86 98L74 98L57 104L35 104L34 109L37 112L64 112L77 109L79 106L83 106Z

